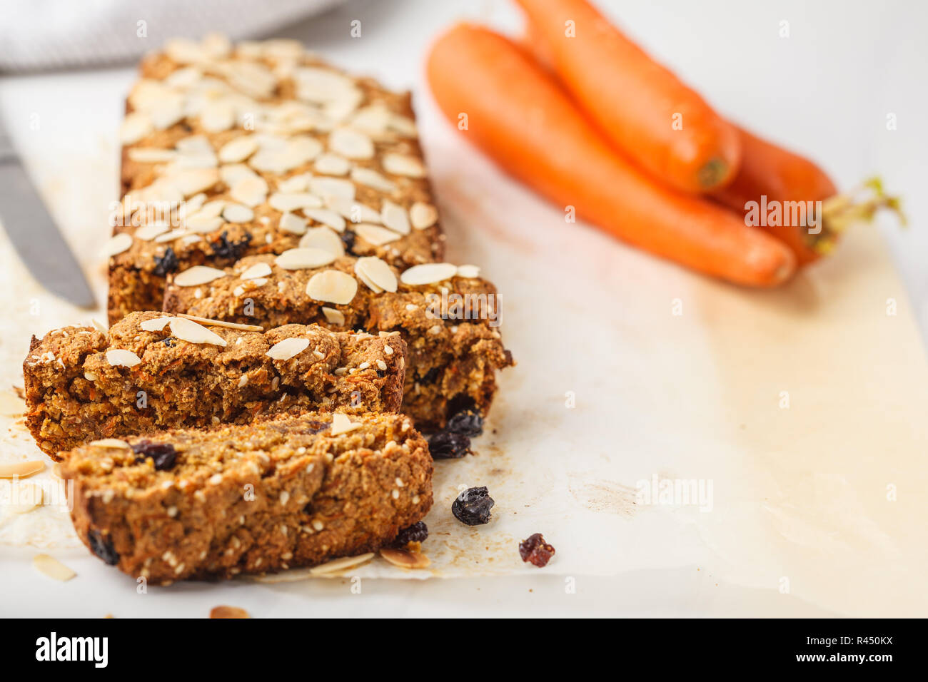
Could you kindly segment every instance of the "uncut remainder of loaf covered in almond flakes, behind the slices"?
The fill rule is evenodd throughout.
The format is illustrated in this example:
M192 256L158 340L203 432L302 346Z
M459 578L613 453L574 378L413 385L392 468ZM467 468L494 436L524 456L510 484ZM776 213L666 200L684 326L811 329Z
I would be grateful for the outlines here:
M315 193L319 208L338 215L320 218L302 209L293 212L309 226L323 225L323 220L341 226L342 238L354 254L377 255L403 266L444 255L445 237L434 212L409 93L348 76L299 43L230 45L215 36L200 44L172 41L142 61L126 113L124 208L111 218L114 236L125 233L132 241L110 257L110 324L133 311L160 308L168 272L196 264L223 267L243 255L298 246L300 230L281 228L283 212L271 205L271 197L281 189ZM333 142L333 134L341 135L341 144ZM241 160L239 154L223 157L221 150L228 143L245 137L259 143L258 151ZM347 147L346 137L352 140ZM259 156L294 140L303 145L302 157L268 161L270 151ZM370 172L379 176L363 175ZM243 205L230 180L242 174L266 183L264 194L246 202L253 215L219 224L204 220L208 210L203 207L214 200ZM341 187L299 187L300 178L310 177L339 181ZM161 234L151 233L150 225L163 221L163 213L152 220L135 212L133 219L135 202L163 208L181 201L185 214L172 213L170 230ZM413 221L405 233L390 237L392 230L387 229L370 240L370 230L358 224L382 229L380 214L388 205L406 215L417 206L419 215L432 218ZM139 233L144 225L146 232Z

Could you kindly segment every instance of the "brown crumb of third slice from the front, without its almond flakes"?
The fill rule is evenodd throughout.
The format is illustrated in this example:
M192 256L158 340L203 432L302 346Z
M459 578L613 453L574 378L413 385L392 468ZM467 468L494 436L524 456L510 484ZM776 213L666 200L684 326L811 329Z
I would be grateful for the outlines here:
M266 264L270 273L241 279L256 264ZM266 327L314 323L372 333L398 331L406 341L408 361L403 411L419 429L441 429L460 409L485 415L496 393L496 371L514 364L496 326L496 287L480 277L450 277L420 286L398 280L396 291L374 291L357 277L357 264L358 259L344 256L322 267L290 270L280 267L273 255L249 256L226 268L226 277L200 287L177 286L169 277L164 310ZM320 302L307 294L310 279L326 270L358 278L351 302ZM399 277L396 271L394 275ZM441 316L441 302L453 301L455 295L486 307L469 318Z

